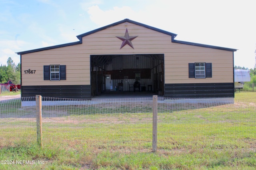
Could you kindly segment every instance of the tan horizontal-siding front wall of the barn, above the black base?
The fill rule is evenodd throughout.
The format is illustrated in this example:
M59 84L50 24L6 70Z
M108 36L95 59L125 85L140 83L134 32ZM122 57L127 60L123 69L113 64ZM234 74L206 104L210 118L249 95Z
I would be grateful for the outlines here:
M124 36L126 28L134 49L116 36ZM233 52L172 43L172 37L151 29L122 23L83 37L82 44L22 55L22 85L89 85L90 55L164 54L165 83L233 82ZM188 78L188 63L212 63L212 78ZM66 65L66 80L43 80L43 65ZM24 74L24 70L36 70Z

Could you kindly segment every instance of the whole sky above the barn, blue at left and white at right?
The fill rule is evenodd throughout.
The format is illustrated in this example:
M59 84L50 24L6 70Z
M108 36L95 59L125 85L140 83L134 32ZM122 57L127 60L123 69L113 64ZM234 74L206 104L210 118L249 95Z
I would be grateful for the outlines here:
M129 18L181 41L238 49L254 68L254 0L0 0L0 64L16 52L78 41L76 35Z

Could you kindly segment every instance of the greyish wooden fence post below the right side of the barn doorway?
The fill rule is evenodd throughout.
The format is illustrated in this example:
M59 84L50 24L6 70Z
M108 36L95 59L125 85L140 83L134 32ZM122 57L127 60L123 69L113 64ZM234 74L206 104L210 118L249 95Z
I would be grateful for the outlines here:
M152 152L157 150L157 95L153 95L153 140Z

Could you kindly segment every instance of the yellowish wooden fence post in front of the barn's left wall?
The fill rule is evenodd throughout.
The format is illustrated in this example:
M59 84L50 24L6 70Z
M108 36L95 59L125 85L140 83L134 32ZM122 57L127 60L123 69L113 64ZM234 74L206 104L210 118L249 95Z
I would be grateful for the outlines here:
M36 139L42 147L42 96L36 95Z

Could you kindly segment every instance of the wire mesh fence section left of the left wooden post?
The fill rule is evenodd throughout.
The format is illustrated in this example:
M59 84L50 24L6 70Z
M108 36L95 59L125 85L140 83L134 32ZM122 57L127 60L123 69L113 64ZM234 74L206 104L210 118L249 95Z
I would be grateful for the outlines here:
M35 97L25 100L35 99ZM36 140L36 107L22 107L21 99L0 101L0 147Z

